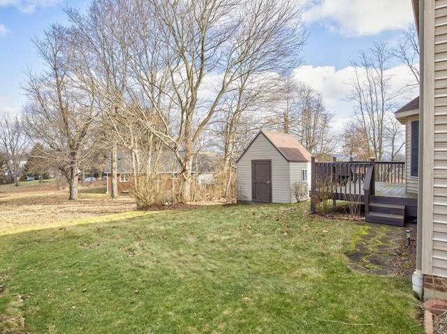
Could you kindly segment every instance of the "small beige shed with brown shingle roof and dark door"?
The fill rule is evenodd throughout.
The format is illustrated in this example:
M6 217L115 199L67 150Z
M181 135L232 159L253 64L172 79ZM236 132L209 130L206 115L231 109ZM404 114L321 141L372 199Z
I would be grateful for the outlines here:
M294 183L310 188L311 158L293 135L261 130L237 159L237 200L296 202Z

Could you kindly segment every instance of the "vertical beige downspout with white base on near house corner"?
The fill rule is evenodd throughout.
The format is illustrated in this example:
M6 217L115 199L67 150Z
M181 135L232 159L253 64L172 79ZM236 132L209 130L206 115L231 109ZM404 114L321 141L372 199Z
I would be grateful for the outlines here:
M419 157L418 157L418 224L416 238L416 271L412 275L413 291L423 299L424 275L422 269L422 239L423 239L423 152L424 152L424 0L419 0Z

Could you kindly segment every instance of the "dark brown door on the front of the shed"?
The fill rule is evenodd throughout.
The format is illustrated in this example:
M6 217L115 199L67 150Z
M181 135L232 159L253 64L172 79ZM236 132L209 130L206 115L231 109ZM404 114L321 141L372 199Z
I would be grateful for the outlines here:
M251 196L254 202L272 202L270 160L251 160Z

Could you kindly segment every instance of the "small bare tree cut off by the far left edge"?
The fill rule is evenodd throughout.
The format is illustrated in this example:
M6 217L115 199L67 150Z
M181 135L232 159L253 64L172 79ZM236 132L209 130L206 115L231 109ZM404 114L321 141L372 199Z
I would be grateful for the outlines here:
M16 186L30 143L31 139L18 116L0 114L0 151L4 153L10 181Z

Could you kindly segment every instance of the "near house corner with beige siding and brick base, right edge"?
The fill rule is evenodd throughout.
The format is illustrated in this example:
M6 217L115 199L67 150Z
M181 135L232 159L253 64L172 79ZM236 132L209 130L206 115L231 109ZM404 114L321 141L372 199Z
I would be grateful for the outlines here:
M421 196L413 289L427 300L447 298L447 1L412 0L412 3L421 54L418 173Z

